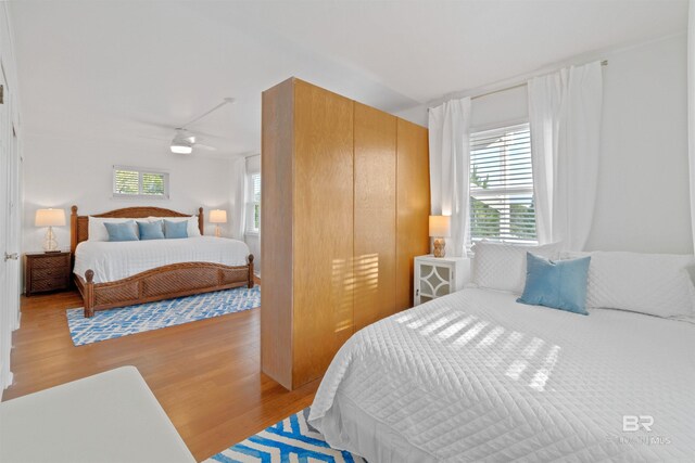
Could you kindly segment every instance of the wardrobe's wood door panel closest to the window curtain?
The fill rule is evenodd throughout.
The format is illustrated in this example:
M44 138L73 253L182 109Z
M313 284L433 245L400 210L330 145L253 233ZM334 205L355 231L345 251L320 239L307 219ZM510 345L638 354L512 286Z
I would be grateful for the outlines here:
M430 175L427 129L397 121L396 309L413 307L413 258L429 253Z

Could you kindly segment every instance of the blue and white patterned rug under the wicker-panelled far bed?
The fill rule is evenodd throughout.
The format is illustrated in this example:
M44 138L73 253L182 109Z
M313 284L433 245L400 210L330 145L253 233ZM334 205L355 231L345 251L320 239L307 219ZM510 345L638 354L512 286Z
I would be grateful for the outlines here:
M67 310L67 325L75 346L159 330L195 320L241 312L261 306L261 286L197 294L121 309L98 310L85 318L84 309Z

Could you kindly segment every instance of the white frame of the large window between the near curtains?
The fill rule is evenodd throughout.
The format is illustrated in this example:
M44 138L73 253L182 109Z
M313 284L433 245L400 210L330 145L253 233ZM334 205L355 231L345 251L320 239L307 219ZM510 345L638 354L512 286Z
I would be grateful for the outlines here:
M507 132L513 132L515 131L514 129L520 127L520 126L527 126L526 129L529 132L529 165L531 167L531 172L533 172L533 154L532 154L532 142L531 142L531 124L529 121L528 118L520 118L520 119L514 119L514 120L506 120L504 123L498 123L498 124L491 124L491 125L485 125L485 126L481 126L481 127L476 127L476 128L471 128L470 129L470 136L469 136L469 159L470 159L470 164L469 164L469 172L468 175L471 175L471 169L473 166L472 163L472 153L473 153L473 141L476 140L477 136L480 137L481 134L484 134L485 132L497 132L497 131L507 131ZM509 244L509 245L520 245L520 246L525 246L525 245L534 245L534 244L539 244L539 240L538 240L538 215L536 211L533 211L533 220L535 222L535 237L533 240L526 240L526 239L515 239L515 237L503 237L504 234L500 233L500 236L497 237L491 237L491 236L481 236L481 237L473 237L472 235L472 220L470 220L470 215L472 215L472 204L471 204L471 200L472 198L478 198L480 200L481 196L489 196L489 197L496 197L496 196L515 196L515 195L529 195L531 197L531 202L532 204L534 204L534 195L535 195L535 184L534 184L534 179L533 179L533 175L531 173L531 185L530 187L504 187L504 188L493 188L490 189L489 192L482 193L481 194L481 190L475 191L472 183L469 182L468 185L468 196L469 196L469 220L468 220L468 243L467 248L470 249L470 247L476 244L477 242L483 241L483 240L489 240L489 241L493 241L496 243L505 243L505 244ZM476 193L476 195L473 196L473 193ZM508 203L510 204L510 203ZM507 214L508 216L508 214ZM510 217L507 217L506 221L504 221L504 219L500 219L500 223L501 226L503 223L510 223Z

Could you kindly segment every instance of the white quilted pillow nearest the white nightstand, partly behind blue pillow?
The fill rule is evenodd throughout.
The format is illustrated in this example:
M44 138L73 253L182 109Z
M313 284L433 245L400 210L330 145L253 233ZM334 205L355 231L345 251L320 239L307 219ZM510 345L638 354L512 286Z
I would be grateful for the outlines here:
M473 285L521 294L526 285L526 253L533 253L536 256L548 259L557 259L560 244L525 246L481 241L476 243L471 250L475 255L471 280Z

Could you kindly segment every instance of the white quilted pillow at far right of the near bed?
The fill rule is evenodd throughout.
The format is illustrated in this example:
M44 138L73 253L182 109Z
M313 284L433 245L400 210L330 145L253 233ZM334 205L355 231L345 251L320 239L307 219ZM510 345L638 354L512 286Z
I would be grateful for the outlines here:
M688 268L695 257L627 252L563 253L591 256L586 308L630 310L662 318L692 317L695 310Z

